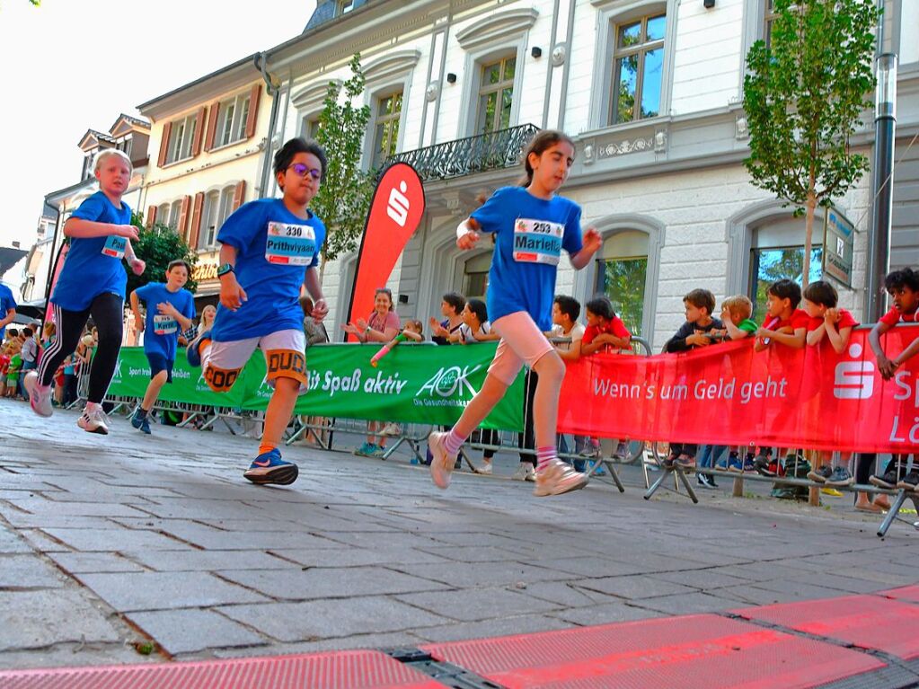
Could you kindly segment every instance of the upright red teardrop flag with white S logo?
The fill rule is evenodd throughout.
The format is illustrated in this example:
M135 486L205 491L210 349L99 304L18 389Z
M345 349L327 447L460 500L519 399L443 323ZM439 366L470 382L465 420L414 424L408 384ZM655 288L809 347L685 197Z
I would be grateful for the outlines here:
M373 311L374 290L386 286L392 268L418 228L424 212L425 188L421 177L410 164L391 164L380 177L370 202L357 254L349 322L367 318Z

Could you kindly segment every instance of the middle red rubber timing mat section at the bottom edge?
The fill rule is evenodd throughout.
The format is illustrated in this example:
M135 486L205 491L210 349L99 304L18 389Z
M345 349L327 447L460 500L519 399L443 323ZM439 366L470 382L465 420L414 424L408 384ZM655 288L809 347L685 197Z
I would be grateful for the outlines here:
M509 689L790 689L885 667L855 650L715 615L422 647Z

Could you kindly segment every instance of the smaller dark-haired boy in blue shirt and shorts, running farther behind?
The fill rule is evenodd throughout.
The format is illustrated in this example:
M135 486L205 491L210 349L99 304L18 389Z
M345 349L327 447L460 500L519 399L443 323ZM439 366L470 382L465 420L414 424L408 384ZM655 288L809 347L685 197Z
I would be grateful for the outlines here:
M182 259L171 261L166 267L166 281L148 282L130 293L130 309L134 322L143 336L143 353L150 363L150 384L143 395L141 406L130 417L130 424L150 435L148 414L166 383L172 382L172 369L176 363L176 344L179 333L188 330L195 317L195 298L184 289L188 281L188 264ZM147 317L142 319L140 301L147 306Z

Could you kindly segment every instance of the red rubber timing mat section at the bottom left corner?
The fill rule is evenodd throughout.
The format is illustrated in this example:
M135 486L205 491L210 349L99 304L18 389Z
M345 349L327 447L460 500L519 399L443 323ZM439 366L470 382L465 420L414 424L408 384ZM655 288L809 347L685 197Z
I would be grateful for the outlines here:
M377 650L0 672L3 689L444 689Z

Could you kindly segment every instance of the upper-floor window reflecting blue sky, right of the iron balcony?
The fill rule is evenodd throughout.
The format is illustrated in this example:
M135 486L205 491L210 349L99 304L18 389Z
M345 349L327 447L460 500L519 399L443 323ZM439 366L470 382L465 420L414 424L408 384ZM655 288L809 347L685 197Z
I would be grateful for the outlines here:
M610 124L660 114L666 26L665 14L641 17L616 26Z

